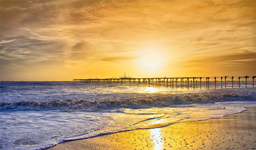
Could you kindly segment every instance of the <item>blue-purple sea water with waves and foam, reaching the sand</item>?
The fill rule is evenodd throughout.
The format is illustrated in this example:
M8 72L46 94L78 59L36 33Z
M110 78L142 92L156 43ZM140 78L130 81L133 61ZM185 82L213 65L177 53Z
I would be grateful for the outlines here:
M58 143L179 122L219 118L256 106L256 88L142 84L1 82L1 149ZM175 85L174 85L175 86ZM235 82L234 87L238 87Z

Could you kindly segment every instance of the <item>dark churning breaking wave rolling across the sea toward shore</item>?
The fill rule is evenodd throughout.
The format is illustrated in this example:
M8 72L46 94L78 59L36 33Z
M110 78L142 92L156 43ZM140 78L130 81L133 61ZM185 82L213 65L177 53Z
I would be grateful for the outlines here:
M104 100L21 100L0 102L0 110L61 110L61 111L99 111L116 108L146 109L167 107L178 104L201 104L219 101L256 100L255 93L183 93L183 94L132 94L126 99Z

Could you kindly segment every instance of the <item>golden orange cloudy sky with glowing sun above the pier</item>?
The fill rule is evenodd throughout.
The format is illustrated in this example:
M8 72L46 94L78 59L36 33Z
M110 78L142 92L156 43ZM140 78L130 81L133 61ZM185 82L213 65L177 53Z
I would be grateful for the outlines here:
M3 1L1 81L256 75L256 1Z

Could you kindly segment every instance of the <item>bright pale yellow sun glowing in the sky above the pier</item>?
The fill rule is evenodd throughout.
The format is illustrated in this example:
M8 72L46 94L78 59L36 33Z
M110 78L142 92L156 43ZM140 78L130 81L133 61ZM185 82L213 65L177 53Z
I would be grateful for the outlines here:
M138 54L139 67L145 71L157 71L163 66L165 61L164 52L160 47L145 47L144 49L140 49Z

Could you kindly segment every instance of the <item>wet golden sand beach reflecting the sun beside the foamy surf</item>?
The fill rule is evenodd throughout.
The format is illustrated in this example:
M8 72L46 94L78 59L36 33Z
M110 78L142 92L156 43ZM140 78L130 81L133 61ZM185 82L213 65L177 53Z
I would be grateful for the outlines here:
M256 107L222 118L126 131L50 149L256 149Z

